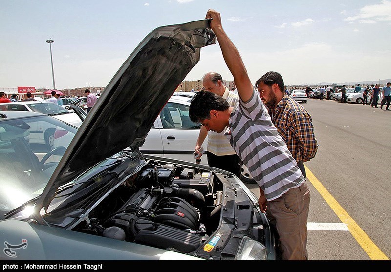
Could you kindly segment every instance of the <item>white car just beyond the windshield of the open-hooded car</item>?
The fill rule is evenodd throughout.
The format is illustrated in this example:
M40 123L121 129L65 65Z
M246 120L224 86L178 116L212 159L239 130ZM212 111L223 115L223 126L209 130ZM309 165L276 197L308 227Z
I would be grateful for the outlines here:
M0 104L0 112L6 113L7 111L30 111L48 114L56 119L64 121L72 126L80 127L82 119L73 111L69 111L64 107L46 101L20 101L20 102L8 102ZM84 116L85 118L85 116ZM30 141L32 143L46 144L48 147L55 147L55 131L56 127L42 126L39 122L34 123L35 127L30 130L34 131L30 135Z

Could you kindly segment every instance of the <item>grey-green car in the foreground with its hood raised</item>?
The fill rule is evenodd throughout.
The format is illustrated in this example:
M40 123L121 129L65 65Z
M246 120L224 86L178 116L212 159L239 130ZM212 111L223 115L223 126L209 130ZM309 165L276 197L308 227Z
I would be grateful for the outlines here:
M276 258L266 215L238 177L139 149L201 47L215 43L210 20L155 29L78 130L50 116L0 113L1 166L10 167L0 171L0 259ZM39 162L26 140L38 118L58 126L59 145ZM15 141L36 163L14 156Z

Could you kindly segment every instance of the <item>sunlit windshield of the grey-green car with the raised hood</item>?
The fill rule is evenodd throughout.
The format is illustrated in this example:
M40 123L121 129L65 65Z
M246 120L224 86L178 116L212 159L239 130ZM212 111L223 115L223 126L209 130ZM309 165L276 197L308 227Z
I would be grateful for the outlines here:
M42 193L76 131L50 116L0 121L1 211Z

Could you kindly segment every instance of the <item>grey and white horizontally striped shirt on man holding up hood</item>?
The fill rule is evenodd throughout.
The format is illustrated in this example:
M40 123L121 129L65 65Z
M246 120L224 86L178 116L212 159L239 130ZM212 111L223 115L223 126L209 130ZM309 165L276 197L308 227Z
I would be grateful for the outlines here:
M225 135L268 201L304 182L302 172L255 91L247 102L239 98Z

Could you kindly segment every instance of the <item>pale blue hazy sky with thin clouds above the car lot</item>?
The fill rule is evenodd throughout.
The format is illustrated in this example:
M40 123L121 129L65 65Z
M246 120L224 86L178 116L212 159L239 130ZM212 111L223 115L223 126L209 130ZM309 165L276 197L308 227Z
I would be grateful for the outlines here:
M221 13L252 82L286 85L391 78L391 0L0 0L0 87L105 87L139 42L163 25ZM233 80L218 44L186 80Z

